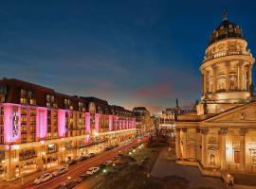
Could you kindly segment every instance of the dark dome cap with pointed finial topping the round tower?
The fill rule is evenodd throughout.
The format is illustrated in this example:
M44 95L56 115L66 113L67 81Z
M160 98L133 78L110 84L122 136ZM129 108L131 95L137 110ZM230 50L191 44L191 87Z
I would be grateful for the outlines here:
M211 33L209 45L228 38L244 39L242 28L229 22L225 17L221 25Z

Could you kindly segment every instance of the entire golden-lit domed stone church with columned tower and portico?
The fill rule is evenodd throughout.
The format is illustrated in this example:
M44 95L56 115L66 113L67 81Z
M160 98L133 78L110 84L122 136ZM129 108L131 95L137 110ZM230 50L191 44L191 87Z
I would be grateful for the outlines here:
M256 174L253 64L242 28L225 13L200 65L201 102L175 122L176 163L196 165L216 177L227 170Z

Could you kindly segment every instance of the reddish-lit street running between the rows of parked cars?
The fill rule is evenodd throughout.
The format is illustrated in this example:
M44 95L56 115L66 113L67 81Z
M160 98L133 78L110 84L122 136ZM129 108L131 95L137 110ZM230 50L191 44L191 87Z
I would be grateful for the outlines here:
M82 173L85 173L86 170L91 166L97 166L107 160L111 160L114 156L119 154L119 151L123 152L127 150L128 148L132 146L136 146L137 143L141 141L145 141L146 138L143 140L138 141L137 139L134 139L131 143L124 145L124 146L118 146L112 150L109 151L102 151L98 155L96 155L93 158L87 159L86 161L83 161L81 163L77 163L75 165L71 165L68 167L68 172L64 173L63 175L52 178L51 180L47 180L41 184L33 184L32 182L24 185L23 189L55 189L58 187L58 185L64 180L67 180L68 177L72 179L78 178Z

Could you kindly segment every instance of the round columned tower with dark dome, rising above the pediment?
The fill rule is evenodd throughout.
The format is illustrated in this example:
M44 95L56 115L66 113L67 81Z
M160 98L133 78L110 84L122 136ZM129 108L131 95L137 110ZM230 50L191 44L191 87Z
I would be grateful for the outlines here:
M227 19L211 34L201 63L202 101L209 113L224 112L250 101L254 58L247 48L242 28ZM203 105L198 106L204 114Z

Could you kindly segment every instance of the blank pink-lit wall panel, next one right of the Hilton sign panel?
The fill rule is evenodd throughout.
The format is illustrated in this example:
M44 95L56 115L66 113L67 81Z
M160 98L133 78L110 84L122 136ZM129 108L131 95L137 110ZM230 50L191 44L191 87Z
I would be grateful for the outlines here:
M42 139L47 136L47 109L36 108L36 137Z

